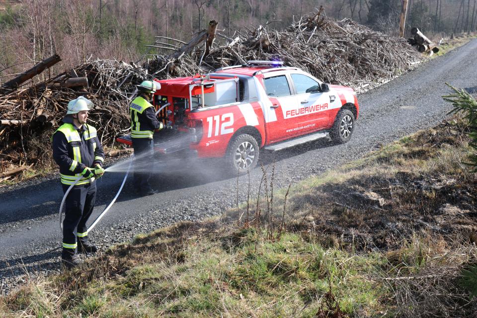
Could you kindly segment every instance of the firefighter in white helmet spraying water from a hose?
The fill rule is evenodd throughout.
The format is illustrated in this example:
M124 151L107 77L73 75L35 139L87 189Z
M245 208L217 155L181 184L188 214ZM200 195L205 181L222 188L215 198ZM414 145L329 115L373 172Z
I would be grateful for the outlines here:
M81 263L78 252L94 253L89 242L86 222L93 212L96 199L95 178L104 173L104 152L96 129L86 124L93 103L80 96L68 103L63 125L53 134L53 158L60 166L63 192L76 182L66 198L63 221L62 264L67 267Z

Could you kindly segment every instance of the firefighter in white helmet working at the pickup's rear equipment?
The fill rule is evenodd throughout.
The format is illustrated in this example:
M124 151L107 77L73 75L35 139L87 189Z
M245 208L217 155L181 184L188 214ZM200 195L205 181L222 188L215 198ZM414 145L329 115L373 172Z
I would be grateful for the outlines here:
M131 140L134 148L134 186L140 195L156 193L150 181L154 170L151 164L154 149L154 131L172 129L163 125L156 117L156 109L149 102L160 84L154 80L145 80L137 86L140 95L129 106L131 115Z

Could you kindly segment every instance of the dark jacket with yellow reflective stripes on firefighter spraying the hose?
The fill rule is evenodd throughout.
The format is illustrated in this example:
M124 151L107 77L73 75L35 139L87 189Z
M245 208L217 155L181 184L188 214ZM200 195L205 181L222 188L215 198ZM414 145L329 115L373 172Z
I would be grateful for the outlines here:
M103 165L103 148L93 126L84 124L77 128L72 123L65 123L55 131L52 139L53 159L60 166L61 183L71 185L85 167L92 168L96 163ZM93 180L94 178L81 178L77 185Z

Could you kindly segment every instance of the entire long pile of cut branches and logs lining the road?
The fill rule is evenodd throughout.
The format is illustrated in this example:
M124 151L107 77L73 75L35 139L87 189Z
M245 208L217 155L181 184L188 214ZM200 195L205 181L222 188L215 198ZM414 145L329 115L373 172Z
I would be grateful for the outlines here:
M405 40L384 35L351 19L335 21L323 9L285 30L259 26L237 31L214 46L217 22L189 42L158 37L153 45L169 49L142 66L112 60L85 62L37 84L25 84L60 60L53 56L0 87L0 182L31 165L52 165L50 137L68 102L83 95L95 104L89 120L108 149L129 129L128 104L143 79L208 73L248 60L281 60L325 82L364 91L393 79L422 57ZM176 44L170 44L174 43ZM203 44L203 46L202 46ZM20 170L18 170L20 169Z

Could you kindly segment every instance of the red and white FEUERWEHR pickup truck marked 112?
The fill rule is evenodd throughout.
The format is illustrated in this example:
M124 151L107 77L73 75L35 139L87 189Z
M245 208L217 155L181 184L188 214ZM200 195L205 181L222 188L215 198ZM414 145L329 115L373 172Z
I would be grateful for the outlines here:
M359 113L352 88L324 84L279 62L249 61L205 76L157 81L157 116L175 129L155 135L155 152L223 158L235 173L255 167L260 149L326 137L345 143ZM117 141L131 145L130 136Z

